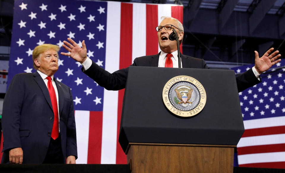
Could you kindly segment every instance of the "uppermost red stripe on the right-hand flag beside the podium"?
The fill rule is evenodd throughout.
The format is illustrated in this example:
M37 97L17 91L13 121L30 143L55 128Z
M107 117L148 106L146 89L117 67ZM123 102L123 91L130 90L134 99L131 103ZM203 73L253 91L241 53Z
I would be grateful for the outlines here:
M245 130L242 138L249 136L274 135L282 133L285 133L285 126L264 127Z

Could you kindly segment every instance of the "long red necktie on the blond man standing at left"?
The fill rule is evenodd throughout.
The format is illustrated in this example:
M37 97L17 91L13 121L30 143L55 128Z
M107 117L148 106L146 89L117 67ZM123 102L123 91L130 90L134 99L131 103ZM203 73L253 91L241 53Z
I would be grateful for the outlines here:
M53 131L51 132L51 138L56 140L59 135L59 127L58 127L58 109L57 109L57 101L56 101L56 92L53 88L53 84L51 82L51 77L47 77L47 89L48 92L50 93L50 100L51 104L53 105L53 114L54 114L54 119L53 119Z

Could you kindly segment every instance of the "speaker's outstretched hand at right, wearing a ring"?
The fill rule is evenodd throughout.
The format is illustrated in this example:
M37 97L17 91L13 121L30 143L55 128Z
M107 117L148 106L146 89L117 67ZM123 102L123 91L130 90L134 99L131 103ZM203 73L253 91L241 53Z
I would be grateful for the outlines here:
M272 54L270 54L273 50L274 48L270 48L260 58L259 58L258 52L254 51L255 53L255 66L254 67L259 74L265 72L266 70L270 69L270 67L272 67L274 64L281 61L281 59L279 59L281 56L281 54L278 54L279 51L274 51Z

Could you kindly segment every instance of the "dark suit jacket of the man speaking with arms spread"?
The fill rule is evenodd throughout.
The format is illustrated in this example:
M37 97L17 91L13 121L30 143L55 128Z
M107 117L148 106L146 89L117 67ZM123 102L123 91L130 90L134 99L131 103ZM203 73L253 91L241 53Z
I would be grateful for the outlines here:
M160 53L136 58L131 66L158 67L159 55ZM181 54L181 62L183 68L209 69L203 59ZM83 68L81 70L83 71ZM126 87L128 71L129 68L127 67L109 73L105 69L99 67L96 63L92 62L91 67L83 72L107 90L120 90ZM238 92L260 83L261 78L259 77L259 79L260 80L254 75L252 69L238 75L236 77Z

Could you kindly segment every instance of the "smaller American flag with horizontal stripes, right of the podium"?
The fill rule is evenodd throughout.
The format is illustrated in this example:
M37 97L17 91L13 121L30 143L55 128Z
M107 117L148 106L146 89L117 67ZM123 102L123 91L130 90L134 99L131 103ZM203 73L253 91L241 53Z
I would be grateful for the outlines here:
M239 166L285 168L284 65L277 63L261 74L261 83L239 93L245 127L237 145ZM253 66L233 70L240 73Z

